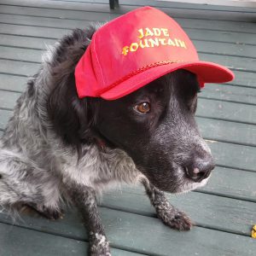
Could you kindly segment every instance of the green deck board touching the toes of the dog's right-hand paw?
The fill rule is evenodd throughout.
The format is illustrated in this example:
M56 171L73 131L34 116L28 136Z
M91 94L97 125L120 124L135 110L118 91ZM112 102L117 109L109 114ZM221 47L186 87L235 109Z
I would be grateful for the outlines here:
M119 212L101 208L102 223L105 226L109 241L113 247L126 251L135 251L150 255L182 255L189 251L191 255L215 256L226 255L254 255L256 243L252 238L239 236L218 230L194 227L189 232L171 230L160 223L157 218L149 218L138 214ZM2 221L10 222L1 214ZM84 227L74 212L67 212L65 218L49 222L44 218L29 218L22 216L20 226L28 226L33 230L42 230L73 237L86 239ZM154 236L152 236L154 234Z

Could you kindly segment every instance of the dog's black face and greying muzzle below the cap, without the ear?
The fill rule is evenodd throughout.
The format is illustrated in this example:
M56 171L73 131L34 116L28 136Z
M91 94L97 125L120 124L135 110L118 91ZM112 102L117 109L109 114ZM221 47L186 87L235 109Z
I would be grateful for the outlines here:
M96 130L157 188L195 189L214 167L195 123L199 90L193 73L177 70L119 100L100 100Z

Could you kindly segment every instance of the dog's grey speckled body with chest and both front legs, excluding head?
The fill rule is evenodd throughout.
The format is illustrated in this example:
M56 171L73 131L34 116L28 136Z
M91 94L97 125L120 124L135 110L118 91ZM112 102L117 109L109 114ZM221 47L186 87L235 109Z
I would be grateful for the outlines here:
M103 151L90 142L81 146L80 151L85 153L79 155L53 129L47 112L49 95L73 73L95 30L90 26L74 31L66 37L70 47L64 51L63 41L49 48L42 67L18 99L0 140L0 206L8 209L25 204L48 218L57 218L63 201L73 201L83 212L90 231L91 255L110 255L96 208L96 195L108 187L143 180L149 199L165 224L188 230L190 222L166 201L163 192L148 183L123 150L106 147ZM193 188L185 184L181 190L186 189Z

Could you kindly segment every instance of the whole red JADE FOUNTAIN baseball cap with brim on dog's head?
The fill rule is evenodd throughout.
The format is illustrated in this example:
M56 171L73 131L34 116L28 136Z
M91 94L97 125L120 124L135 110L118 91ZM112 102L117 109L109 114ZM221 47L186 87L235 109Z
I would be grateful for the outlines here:
M199 61L175 20L143 7L111 20L93 35L75 68L79 98L115 100L177 69L195 73L201 87L234 79L226 67Z

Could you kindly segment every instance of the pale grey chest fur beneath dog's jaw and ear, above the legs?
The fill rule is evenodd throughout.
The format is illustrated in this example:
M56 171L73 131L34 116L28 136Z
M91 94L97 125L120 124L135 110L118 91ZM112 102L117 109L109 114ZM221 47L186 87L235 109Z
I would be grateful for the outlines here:
M86 154L78 161L76 154L65 154L61 160L64 183L79 183L96 190L117 183L135 183L142 176L131 158L120 149L100 151L96 145L84 148Z

